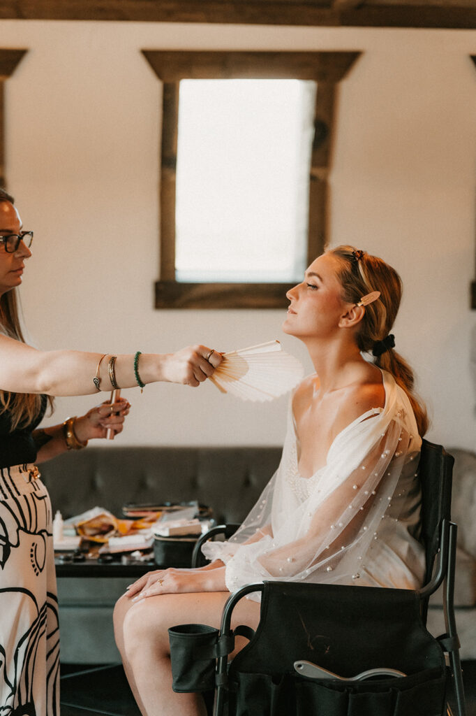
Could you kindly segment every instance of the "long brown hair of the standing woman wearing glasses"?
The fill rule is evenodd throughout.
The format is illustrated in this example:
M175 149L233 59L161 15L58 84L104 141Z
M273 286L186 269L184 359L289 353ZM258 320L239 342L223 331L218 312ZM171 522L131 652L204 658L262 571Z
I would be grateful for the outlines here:
M14 198L0 189L0 203L9 201L14 203ZM19 317L18 299L16 289L6 291L0 296L0 332L9 338L14 338L24 343L23 333ZM53 410L53 399L49 397L49 405ZM41 395L34 393L11 393L0 389L0 415L9 412L11 420L11 431L16 428L27 427L38 417L41 412Z

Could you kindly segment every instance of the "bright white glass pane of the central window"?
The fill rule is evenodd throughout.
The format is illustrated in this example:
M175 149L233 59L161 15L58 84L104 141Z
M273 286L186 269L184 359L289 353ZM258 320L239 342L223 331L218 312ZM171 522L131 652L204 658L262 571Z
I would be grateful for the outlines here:
M177 281L302 278L316 91L296 79L180 82Z

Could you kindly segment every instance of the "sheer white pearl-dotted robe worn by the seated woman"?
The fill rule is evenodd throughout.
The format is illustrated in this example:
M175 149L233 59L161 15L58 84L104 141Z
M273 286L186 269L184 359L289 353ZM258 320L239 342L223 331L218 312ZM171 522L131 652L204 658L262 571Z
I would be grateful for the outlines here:
M329 448L327 464L310 478L299 474L289 407L277 472L237 533L202 548L207 558L226 564L229 591L270 579L421 586L422 441L405 391L389 373L382 371L382 378L385 407L345 427Z

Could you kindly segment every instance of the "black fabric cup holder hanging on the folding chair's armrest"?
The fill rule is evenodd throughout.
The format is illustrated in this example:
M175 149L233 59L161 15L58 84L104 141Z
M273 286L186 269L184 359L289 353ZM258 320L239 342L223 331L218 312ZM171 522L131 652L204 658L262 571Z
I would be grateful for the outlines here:
M207 624L179 624L169 629L172 689L203 692L214 689L218 629Z

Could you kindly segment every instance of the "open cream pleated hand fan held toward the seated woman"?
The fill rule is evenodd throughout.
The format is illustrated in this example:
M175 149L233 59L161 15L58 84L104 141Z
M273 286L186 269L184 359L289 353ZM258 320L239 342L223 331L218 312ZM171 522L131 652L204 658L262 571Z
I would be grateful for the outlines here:
M210 380L223 393L264 401L292 390L303 374L299 360L270 341L225 353Z

